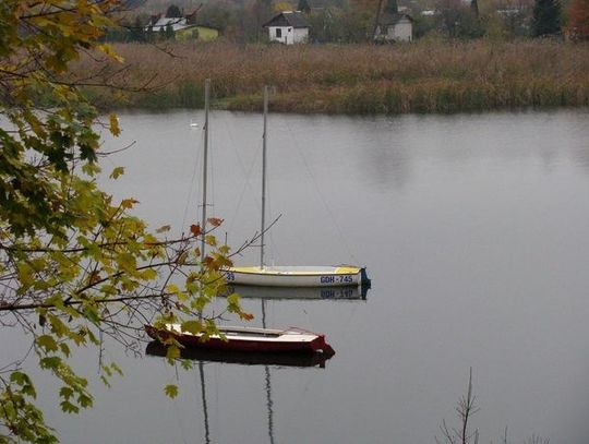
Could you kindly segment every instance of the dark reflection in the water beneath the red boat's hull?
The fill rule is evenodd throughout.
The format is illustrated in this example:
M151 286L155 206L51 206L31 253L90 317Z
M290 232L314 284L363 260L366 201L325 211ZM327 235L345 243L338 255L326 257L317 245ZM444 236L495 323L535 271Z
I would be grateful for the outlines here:
M166 357L167 347L157 340L147 344L145 353L149 356ZM207 362L226 362L242 365L276 365L276 367L317 367L325 368L325 362L332 358L328 353L297 353L297 352L251 352L207 350L202 348L182 348L182 359Z

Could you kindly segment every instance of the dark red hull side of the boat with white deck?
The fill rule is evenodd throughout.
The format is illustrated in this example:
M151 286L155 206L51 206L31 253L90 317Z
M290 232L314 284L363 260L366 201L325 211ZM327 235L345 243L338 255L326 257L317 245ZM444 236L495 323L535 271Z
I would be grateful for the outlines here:
M235 339L228 337L227 340L224 340L218 337L212 337L208 340L201 340L200 336L194 336L191 334L183 334L178 332L172 332L167 328L156 328L152 325L145 325L145 331L147 334L157 340L165 340L168 337L172 336L178 343L184 347L190 348L201 348L207 350L225 350L225 351L245 351L245 352L268 352L268 353L278 353L278 352L324 352L334 355L334 349L325 343L324 335L312 334L315 337L309 341L266 341L266 340L256 340L255 338L248 339ZM291 329L297 332L302 332L298 329ZM309 333L309 332L304 332ZM309 333L310 334L310 333Z

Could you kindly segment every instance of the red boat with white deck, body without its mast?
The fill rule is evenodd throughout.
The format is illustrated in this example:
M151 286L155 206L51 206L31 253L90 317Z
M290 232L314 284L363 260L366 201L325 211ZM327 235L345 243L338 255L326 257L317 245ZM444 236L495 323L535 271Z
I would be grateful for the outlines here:
M220 335L212 335L203 340L202 334L182 332L180 324L164 327L145 325L145 332L154 339L165 340L170 336L184 347L209 350L254 351L254 352L323 352L334 355L334 349L325 343L325 336L301 328L288 329L255 327L218 327Z

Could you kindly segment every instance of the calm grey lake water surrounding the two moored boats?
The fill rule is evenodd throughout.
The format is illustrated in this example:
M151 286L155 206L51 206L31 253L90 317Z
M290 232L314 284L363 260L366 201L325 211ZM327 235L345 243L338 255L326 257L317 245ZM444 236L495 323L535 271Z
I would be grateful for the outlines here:
M202 118L123 115L106 143L136 142L106 161L127 167L106 187L141 201L154 227L197 220L203 144L190 123ZM233 245L259 228L261 129L260 116L212 117L209 213ZM44 401L64 443L434 443L442 419L456 423L470 367L481 442L507 425L513 443L587 443L587 111L272 115L268 156L283 215L268 261L359 263L373 279L365 300L265 302L268 326L324 332L336 356L324 369L205 362L205 425L197 368L170 400L172 369L113 347L127 377L94 382L94 409L63 417ZM244 305L260 325L261 300ZM97 357L77 365L95 375Z

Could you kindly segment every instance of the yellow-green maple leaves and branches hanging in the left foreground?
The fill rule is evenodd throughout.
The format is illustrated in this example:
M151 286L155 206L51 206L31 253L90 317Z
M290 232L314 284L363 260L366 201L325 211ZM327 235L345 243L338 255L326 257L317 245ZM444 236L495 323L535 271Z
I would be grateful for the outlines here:
M103 347L106 336L132 346L151 321L213 334L215 319L195 315L225 290L221 268L230 264L228 248L209 232L219 219L168 239L166 227L151 232L131 214L135 200L116 201L97 185L105 154L96 128L113 135L120 128L115 115L98 119L80 86L122 87L100 69L107 59L122 61L100 43L117 26L118 7L118 0L0 4L0 326L31 335L32 356L55 376L60 407L70 413L93 404L87 381L69 363L76 348ZM91 51L96 67L69 71ZM123 172L115 168L110 178ZM197 247L203 237L206 255ZM236 298L227 311L249 317ZM172 362L178 346L170 350ZM0 442L53 443L23 370L26 356L1 365ZM122 370L101 360L100 379L108 384L115 374Z

